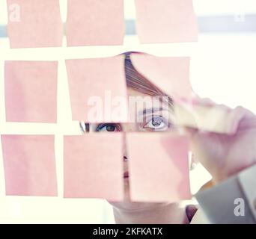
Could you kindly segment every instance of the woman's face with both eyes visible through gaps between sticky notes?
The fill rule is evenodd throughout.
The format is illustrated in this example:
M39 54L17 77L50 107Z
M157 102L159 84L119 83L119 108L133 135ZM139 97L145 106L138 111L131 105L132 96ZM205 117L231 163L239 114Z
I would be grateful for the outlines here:
M168 103L163 104L159 97L148 96L136 90L128 88L129 99L143 100L144 104L138 103L136 107L129 101L129 115L134 122L129 123L100 123L91 124L90 131L109 131L109 132L138 132L138 131L171 131L174 130L171 125L171 106ZM137 98L136 98L137 97ZM126 146L124 145L124 203L115 203L115 205L127 208L136 208L141 203L129 203L129 157Z

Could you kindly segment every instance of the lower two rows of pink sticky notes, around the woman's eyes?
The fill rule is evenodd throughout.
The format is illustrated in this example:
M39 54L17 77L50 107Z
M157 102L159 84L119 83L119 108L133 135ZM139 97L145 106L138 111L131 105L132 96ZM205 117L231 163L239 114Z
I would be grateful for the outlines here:
M159 88L172 85L165 87L169 95L180 93L183 97L192 93L189 58L159 58L143 53L132 53L130 58L135 69ZM106 105L105 90L112 96L127 97L124 62L124 55L66 60L73 120L95 123L87 117L88 101L98 96ZM153 64L159 66L149 70ZM58 62L6 61L6 122L58 123L57 78ZM179 83L183 84L184 92ZM115 119L106 118L105 122L109 120L126 122L127 109ZM64 187L65 198L122 201L126 145L132 201L176 202L190 197L189 148L184 137L143 132L94 132L63 137L64 184L60 185L56 179L55 135L1 135L7 195L57 196L58 185Z

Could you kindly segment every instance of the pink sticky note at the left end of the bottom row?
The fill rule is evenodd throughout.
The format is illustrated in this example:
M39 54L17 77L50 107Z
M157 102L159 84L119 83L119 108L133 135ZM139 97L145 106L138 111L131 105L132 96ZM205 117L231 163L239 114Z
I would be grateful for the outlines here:
M6 195L57 196L53 135L1 135Z

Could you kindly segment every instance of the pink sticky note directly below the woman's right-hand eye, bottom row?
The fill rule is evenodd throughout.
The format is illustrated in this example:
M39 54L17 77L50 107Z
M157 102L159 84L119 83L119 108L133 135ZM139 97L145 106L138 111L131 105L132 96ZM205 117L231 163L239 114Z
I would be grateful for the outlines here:
M185 137L129 133L127 149L132 201L177 202L191 198Z

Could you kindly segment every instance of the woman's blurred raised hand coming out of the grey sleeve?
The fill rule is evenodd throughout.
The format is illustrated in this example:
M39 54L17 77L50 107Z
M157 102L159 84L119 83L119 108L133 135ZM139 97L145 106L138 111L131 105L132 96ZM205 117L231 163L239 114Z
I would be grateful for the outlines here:
M204 103L202 99L198 104ZM195 159L213 176L213 181L221 181L246 167L256 164L256 116L246 108L237 107L234 110L216 105L227 111L232 111L237 117L234 134L220 134L201 131L200 128L186 128L190 147Z

